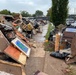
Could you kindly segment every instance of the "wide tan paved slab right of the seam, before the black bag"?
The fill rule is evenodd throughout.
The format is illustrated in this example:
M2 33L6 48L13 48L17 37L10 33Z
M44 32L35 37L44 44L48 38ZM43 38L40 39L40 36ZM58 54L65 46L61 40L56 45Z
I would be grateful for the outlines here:
M64 60L51 57L50 52L46 51L43 72L48 75L65 75L63 71L67 67L68 65L64 62Z

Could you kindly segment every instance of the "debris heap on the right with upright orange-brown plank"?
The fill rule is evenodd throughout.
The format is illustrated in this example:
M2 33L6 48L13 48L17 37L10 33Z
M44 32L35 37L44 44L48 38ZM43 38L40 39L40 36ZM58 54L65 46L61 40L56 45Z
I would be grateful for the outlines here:
M76 27L61 25L50 32L48 40L54 44L54 51L51 52L50 56L65 59L68 64L75 63Z

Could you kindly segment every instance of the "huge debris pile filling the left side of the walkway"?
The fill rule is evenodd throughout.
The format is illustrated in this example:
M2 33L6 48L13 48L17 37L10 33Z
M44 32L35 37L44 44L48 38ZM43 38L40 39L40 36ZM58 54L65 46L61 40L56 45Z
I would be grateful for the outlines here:
M40 31L39 24L22 18L0 15L0 75L26 75L24 66L30 56L30 42L33 35Z

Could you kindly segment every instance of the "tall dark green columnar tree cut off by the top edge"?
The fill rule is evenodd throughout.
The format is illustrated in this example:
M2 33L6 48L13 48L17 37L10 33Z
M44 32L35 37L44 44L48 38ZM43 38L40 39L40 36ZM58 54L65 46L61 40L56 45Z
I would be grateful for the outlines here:
M68 16L68 0L52 0L52 22L55 26L66 23Z

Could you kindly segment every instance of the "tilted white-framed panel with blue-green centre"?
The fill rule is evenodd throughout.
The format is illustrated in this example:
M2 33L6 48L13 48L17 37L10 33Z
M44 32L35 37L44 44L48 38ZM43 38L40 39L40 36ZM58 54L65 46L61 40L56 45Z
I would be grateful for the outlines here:
M23 52L27 57L30 56L30 47L28 47L23 41L19 38L15 38L11 42L14 46L16 46L21 52Z

